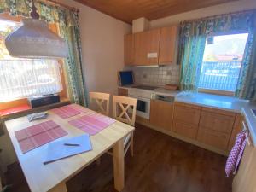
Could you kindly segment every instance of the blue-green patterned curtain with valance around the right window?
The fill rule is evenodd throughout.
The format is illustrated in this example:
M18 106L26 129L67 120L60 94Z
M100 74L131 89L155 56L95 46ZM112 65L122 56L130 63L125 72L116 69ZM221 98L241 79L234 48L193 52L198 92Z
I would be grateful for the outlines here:
M201 74L201 61L207 36L249 32L247 48L242 61L241 75L237 84L236 96L252 98L254 95L255 97L255 83L253 88L253 82L255 82L255 80L253 81L254 76L251 71L255 68L255 60L253 60L252 54L253 47L255 47L254 18L255 10L249 10L183 22L180 30L180 47L178 54L178 63L182 65L180 79L182 90L197 91ZM247 82L247 84L245 82Z

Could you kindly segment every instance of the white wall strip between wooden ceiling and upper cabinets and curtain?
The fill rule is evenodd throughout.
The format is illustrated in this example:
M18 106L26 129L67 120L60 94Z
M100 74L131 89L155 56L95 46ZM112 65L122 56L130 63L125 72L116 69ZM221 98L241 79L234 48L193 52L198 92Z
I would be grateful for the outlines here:
M202 17L221 15L247 9L256 9L256 0L239 0L231 3L215 5L208 8L196 9L178 15L167 16L158 20L151 20L150 28L171 26L173 24L178 24L183 20L194 20Z

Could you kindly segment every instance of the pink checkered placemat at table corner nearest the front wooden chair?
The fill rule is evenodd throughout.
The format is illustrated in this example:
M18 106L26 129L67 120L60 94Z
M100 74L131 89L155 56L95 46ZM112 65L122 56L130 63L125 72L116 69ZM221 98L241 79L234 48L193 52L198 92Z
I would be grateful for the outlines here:
M102 114L90 113L79 117L78 119L73 119L68 123L90 135L95 135L96 133L104 130L114 122L115 119L111 119Z

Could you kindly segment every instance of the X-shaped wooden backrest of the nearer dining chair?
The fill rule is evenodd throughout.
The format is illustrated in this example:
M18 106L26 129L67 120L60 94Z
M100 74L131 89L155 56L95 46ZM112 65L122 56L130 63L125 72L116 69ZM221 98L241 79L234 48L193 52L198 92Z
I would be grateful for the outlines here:
M113 118L134 126L137 99L128 96L113 96ZM131 108L131 110L129 110ZM128 111L129 110L129 111ZM129 113L128 113L129 112ZM130 116L129 116L130 114Z

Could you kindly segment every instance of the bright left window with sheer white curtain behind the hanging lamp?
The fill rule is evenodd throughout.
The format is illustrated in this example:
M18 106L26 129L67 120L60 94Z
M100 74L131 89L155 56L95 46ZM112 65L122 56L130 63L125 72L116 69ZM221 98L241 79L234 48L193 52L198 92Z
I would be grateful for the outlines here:
M59 61L21 59L9 55L4 39L19 25L17 22L0 20L0 102L62 90Z

